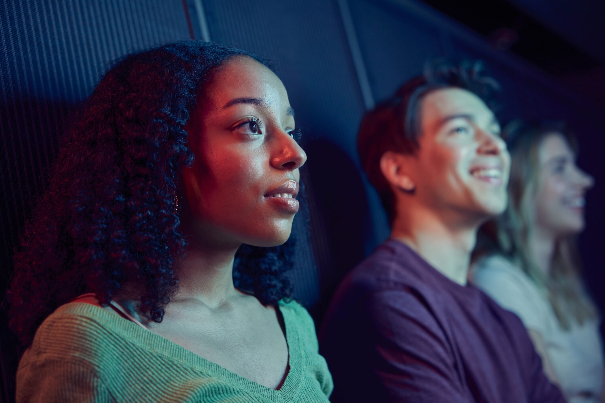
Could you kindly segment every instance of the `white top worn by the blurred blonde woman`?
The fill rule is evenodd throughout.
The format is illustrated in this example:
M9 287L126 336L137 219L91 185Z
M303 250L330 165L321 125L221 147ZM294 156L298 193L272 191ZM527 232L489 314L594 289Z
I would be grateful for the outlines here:
M546 295L533 280L502 256L479 260L471 277L500 306L538 332L569 403L597 403L603 387L603 346L598 320L563 330Z

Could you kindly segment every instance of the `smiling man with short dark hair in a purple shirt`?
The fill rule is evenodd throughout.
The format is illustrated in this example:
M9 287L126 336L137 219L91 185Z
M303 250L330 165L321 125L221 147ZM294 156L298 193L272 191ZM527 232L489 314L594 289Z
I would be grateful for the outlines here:
M325 317L333 402L564 401L521 321L466 281L510 163L478 66L433 66L364 117L359 156L392 231Z

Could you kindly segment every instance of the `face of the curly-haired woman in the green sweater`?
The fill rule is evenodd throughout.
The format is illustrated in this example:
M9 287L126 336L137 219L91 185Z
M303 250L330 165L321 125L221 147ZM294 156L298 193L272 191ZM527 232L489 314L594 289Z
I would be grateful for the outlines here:
M286 242L307 156L281 80L250 57L231 59L212 74L186 128L195 162L183 170L181 219L194 236L216 247Z

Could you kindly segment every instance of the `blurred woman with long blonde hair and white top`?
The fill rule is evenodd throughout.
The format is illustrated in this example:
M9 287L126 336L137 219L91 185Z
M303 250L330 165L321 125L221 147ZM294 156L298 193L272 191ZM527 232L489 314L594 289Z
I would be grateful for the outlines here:
M561 124L515 122L508 208L480 231L473 281L521 318L546 375L570 402L597 402L603 356L597 311L581 284L574 236L594 181Z

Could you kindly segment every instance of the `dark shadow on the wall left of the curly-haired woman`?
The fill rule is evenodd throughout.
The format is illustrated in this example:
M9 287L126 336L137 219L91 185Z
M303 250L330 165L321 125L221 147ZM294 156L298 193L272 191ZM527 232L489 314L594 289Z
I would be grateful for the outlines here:
M77 109L66 100L15 97L0 104L0 300L5 307L5 291L13 266L14 247L19 231L36 200L45 189L50 168L59 148L60 134ZM15 396L17 341L8 330L5 309L0 309L1 401Z

